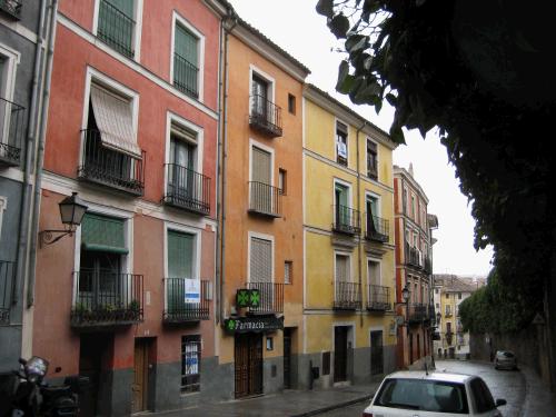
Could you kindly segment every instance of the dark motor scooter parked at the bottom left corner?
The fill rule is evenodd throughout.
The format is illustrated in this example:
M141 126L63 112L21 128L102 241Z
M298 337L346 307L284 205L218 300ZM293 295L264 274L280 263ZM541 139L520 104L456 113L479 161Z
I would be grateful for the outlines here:
M88 386L89 378L66 377L63 385L49 386L44 380L48 361L38 356L19 359L20 370L13 371L13 394L9 417L73 417L79 415L79 394ZM61 368L57 368L59 373Z

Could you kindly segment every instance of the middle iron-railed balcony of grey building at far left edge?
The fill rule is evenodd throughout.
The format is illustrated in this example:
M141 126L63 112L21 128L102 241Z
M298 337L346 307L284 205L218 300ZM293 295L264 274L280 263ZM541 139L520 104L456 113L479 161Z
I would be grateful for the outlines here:
M21 161L24 111L24 107L0 97L0 167L17 167Z

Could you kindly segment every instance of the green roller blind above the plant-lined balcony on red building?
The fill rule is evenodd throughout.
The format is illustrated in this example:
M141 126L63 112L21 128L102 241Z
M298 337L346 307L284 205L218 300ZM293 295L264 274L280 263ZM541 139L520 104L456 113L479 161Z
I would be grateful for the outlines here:
M86 214L81 221L81 244L86 250L127 254L122 219Z

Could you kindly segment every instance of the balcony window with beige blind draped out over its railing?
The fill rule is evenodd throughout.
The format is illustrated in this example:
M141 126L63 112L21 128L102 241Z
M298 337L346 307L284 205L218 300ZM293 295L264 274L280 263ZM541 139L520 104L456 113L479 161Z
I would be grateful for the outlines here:
M136 142L132 100L91 83L88 122L81 133L79 179L142 196L145 158Z

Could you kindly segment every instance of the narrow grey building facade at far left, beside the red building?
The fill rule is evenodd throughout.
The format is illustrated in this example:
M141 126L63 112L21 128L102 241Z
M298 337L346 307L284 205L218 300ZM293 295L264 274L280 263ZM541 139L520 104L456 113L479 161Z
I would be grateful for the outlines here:
M0 403L3 380L30 354L23 324L32 304L26 280L37 148L46 113L44 69L52 8L48 1L0 2ZM29 297L28 297L29 296Z

